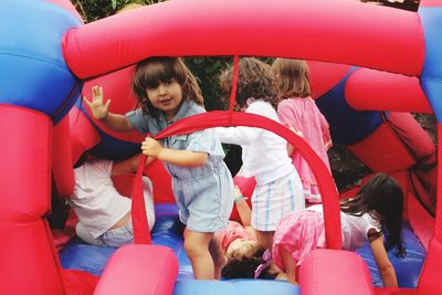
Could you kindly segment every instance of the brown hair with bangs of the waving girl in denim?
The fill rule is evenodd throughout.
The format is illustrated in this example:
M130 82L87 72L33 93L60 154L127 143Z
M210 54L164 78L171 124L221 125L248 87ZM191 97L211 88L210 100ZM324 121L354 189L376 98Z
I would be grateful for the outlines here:
M145 114L151 116L158 114L158 109L151 105L149 97L147 97L146 89L156 88L160 83L170 82L172 78L181 85L182 101L193 101L197 105L203 106L201 89L182 59L156 56L137 64L131 82L131 88Z

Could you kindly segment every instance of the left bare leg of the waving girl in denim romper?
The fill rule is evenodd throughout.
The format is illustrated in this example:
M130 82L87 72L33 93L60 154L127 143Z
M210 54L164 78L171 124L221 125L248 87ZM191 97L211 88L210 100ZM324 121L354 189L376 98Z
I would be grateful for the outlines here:
M185 231L185 250L190 259L196 280L213 280L214 265L209 253L209 243L212 240L211 232Z

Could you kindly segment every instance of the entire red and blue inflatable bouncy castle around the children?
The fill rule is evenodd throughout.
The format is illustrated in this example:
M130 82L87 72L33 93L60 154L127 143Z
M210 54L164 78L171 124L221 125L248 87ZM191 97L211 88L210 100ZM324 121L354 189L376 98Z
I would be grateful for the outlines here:
M441 138L441 0L422 0L418 12L347 0L170 0L88 24L67 0L2 0L0 22L0 294L442 294L440 152L410 115L434 114ZM137 152L143 139L94 120L81 94L91 97L91 86L99 84L113 98L112 112L131 109L134 64L157 55L308 60L334 141L406 189L409 256L393 261L399 288L381 287L369 250L340 250L339 196L305 141L274 122L232 110L189 117L159 136L252 126L299 149L320 179L329 247L303 263L299 286L192 280L159 162L139 169L135 180L115 180L125 194L134 182L135 244L116 250L72 241L56 247L60 236L45 218L51 192L72 194L80 155L118 160ZM151 233L136 221L141 172L154 182Z

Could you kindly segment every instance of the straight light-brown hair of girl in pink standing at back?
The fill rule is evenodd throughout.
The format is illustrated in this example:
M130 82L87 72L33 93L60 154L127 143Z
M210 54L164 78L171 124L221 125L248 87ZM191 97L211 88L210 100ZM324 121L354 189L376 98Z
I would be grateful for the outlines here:
M280 99L311 96L308 65L303 60L276 59L272 64Z

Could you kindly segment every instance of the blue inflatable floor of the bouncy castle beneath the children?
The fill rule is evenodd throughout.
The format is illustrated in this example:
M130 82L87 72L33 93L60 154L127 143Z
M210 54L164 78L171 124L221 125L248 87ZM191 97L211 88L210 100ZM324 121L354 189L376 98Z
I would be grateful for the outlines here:
M172 249L178 256L180 265L175 294L298 294L298 287L278 281L194 281L191 264L182 245L183 226L178 220L178 210L176 204L156 204L155 210L156 223L151 232L152 243ZM407 257L397 259L392 253L389 253L389 256L394 265L399 286L415 287L425 259L425 250L408 223L404 224L403 236L408 253ZM80 240L74 240L60 252L60 260L64 268L81 270L94 275L101 275L107 260L115 251L116 249L114 247L99 247L85 244ZM368 264L372 284L375 286L382 286L369 245L365 245L358 252ZM241 292L241 289L245 287L248 292ZM254 289L253 293L251 293L251 288ZM210 289L214 293L210 293ZM189 293L189 291L191 292Z

